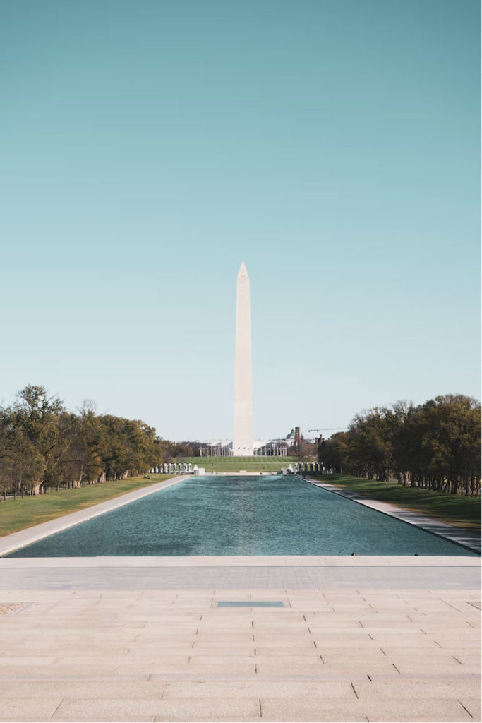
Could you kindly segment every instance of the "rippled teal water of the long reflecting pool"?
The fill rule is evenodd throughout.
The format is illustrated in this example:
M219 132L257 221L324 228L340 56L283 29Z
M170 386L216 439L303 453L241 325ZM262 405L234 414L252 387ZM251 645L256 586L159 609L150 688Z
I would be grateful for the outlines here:
M8 557L475 555L294 476L204 476Z

